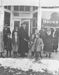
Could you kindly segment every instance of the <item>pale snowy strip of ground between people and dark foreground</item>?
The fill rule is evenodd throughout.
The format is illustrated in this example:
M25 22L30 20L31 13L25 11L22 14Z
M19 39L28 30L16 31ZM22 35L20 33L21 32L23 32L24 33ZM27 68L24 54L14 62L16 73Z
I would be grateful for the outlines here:
M40 63L41 62L41 63ZM58 73L59 61L53 59L42 59L36 62L34 59L28 58L0 58L0 66L4 68L14 68L22 71L33 70L35 72L44 72L47 70L50 73Z

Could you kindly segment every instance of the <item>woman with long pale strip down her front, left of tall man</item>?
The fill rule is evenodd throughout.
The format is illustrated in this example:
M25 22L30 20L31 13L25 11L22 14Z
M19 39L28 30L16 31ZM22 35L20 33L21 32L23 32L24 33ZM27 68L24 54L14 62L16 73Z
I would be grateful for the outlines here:
M19 37L18 37L18 28L13 30L12 32L12 47L13 47L13 55L14 57L17 56L18 53L18 44L19 44Z

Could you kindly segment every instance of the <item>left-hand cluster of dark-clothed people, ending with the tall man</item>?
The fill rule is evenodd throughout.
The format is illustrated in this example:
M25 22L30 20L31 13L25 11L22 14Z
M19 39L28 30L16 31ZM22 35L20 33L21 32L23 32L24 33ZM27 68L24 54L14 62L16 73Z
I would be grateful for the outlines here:
M29 36L26 32L26 24L22 24L21 27L16 26L12 33L7 27L3 30L4 50L7 51L7 57L11 57L12 52L14 57L17 55L25 57L29 50L28 41Z

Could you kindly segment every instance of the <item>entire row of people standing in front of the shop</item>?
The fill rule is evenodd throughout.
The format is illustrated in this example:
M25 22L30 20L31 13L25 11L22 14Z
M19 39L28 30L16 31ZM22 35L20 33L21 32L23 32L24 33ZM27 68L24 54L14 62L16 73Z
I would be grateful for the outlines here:
M3 29L4 50L7 52L7 57L34 57L42 58L43 54L46 57L51 57L52 52L57 52L58 49L58 32L56 29L46 28L33 33L30 37L26 31L26 24L21 27L15 27L10 31L8 27Z

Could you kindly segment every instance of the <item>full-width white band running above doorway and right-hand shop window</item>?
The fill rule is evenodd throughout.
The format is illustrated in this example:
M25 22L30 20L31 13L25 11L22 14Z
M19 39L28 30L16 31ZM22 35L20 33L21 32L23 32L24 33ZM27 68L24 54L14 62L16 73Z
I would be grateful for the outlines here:
M41 7L56 7L59 6L59 0L0 0L0 5L26 5ZM2 3L1 3L2 2Z

